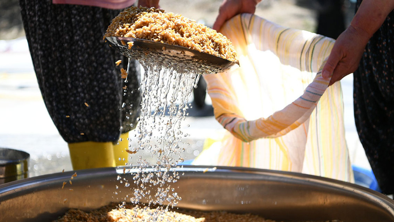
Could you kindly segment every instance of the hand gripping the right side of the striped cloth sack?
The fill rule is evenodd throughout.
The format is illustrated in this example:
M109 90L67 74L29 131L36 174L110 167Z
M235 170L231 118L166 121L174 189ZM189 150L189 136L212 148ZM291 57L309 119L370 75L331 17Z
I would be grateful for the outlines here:
M325 79L332 74L329 85L333 85L357 69L369 38L368 33L352 25L338 36L322 70L322 77Z

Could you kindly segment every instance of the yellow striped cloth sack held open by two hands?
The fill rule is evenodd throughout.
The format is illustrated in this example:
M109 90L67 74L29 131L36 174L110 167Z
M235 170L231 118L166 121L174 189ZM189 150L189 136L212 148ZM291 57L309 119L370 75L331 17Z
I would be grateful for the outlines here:
M242 14L220 30L240 67L205 75L227 132L193 164L302 172L353 182L340 83L321 69L334 40ZM328 88L327 88L328 87Z

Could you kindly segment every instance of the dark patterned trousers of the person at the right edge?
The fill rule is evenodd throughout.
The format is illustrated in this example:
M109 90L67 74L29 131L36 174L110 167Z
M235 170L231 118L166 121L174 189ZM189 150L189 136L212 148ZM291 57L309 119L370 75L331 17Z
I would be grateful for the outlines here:
M357 8L360 3L357 1ZM383 193L393 194L394 11L368 42L354 72L354 114L360 141L379 186Z

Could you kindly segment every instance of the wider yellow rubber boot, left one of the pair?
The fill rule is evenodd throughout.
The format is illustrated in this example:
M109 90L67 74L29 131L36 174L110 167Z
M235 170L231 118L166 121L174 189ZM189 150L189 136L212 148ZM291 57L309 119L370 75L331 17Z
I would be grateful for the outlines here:
M69 143L72 169L115 167L112 142Z

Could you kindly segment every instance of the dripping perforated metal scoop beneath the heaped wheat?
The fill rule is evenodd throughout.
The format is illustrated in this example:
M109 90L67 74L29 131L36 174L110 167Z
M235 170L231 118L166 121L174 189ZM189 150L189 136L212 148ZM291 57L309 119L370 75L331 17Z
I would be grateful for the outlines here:
M223 72L239 65L208 53L177 45L125 37L107 37L106 39L123 55L140 62L161 61L168 67L183 65L189 70L201 70L205 74ZM127 42L129 41L134 42L131 49L128 49Z

